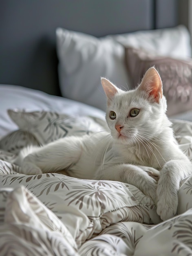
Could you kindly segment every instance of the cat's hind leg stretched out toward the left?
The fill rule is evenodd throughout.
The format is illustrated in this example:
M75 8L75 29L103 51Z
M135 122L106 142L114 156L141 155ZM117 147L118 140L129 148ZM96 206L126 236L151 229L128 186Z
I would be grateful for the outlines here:
M35 148L21 163L25 174L56 172L76 164L81 157L83 137L67 137Z

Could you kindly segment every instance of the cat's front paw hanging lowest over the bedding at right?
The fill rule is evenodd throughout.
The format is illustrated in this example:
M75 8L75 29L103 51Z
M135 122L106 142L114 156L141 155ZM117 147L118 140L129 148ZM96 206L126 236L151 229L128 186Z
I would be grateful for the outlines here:
M159 196L161 194L161 196ZM168 220L177 213L178 197L177 193L170 195L166 191L160 191L157 187L157 214L161 220Z

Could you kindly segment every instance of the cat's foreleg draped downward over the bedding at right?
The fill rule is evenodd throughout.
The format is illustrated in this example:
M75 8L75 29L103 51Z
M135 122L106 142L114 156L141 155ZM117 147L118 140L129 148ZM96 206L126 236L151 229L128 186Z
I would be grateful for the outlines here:
M157 214L162 220L176 215L180 181L190 174L192 164L188 159L171 160L163 166L157 186Z

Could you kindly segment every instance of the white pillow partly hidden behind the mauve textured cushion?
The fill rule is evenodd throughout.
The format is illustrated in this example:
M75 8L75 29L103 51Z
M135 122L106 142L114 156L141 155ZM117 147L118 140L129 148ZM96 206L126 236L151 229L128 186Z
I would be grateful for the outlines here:
M160 56L172 58L191 57L191 39L188 29L179 25L174 28L136 31L108 36L122 45L145 49Z

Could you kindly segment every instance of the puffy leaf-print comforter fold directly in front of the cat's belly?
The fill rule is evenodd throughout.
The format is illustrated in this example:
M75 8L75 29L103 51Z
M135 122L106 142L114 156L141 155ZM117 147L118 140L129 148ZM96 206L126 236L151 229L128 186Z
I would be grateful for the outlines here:
M60 173L0 178L6 188L22 184L31 191L65 224L77 245L122 220L148 224L160 221L152 200L121 182L80 180Z

